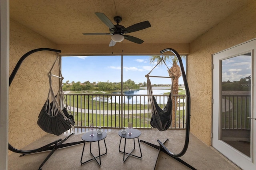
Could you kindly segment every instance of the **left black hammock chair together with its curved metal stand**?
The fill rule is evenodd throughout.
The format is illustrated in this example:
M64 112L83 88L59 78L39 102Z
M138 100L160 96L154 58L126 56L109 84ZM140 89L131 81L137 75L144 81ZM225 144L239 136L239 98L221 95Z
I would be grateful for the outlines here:
M51 48L38 48L38 49L33 49L31 51L28 51L27 53L25 53L18 61L18 63L16 64L16 66L14 67L14 70L12 71L10 77L9 77L9 87L12 84L12 81L18 71L18 69L20 68L20 65L22 64L22 62L24 61L24 59L26 59L26 57L28 57L30 54L35 53L37 51L55 51L57 54L60 53L60 50L57 49L51 49ZM58 57L57 57L58 59ZM57 61L56 59L56 61ZM55 63L56 63L55 61ZM59 63L59 62L58 62ZM60 66L59 66L60 68ZM51 69L52 70L52 69ZM51 72L51 71L50 71ZM61 72L60 72L61 74ZM48 74L49 76L49 82L50 82L50 90L48 93L48 99L46 100L46 103L44 103L44 107L42 108L42 111L39 114L40 119L43 119L43 117L53 117L52 115L56 114L58 115L58 118L56 116L56 120L60 119L61 123L59 122L55 122L52 123L52 127L51 128L46 128L46 124L49 124L49 121L45 120L44 123L39 121L39 124L42 124L42 127L45 128L47 131L52 132L52 133L56 133L57 135L60 134L64 129L70 129L74 124L74 118L72 115L70 115L70 110L69 107L67 105L66 99L64 97L64 93L62 91L62 75L61 77L56 76L56 75L52 75L51 73ZM51 77L58 77L61 79L60 81L60 89L58 90L58 93L56 94L56 96L54 96L54 93L52 91L52 87L51 87ZM59 102L60 101L60 102ZM62 109L61 109L62 108ZM48 112L47 112L48 111ZM46 113L48 115L46 115ZM60 114L58 114L60 113ZM47 118L46 118L47 119ZM61 126L65 126L65 128L61 128L58 130L54 130L53 127L55 128L59 128ZM40 125L41 126L41 125ZM50 129L50 130L49 130ZM46 131L45 130L45 131ZM66 130L65 130L66 131ZM41 170L42 166L46 163L46 161L50 158L50 156L52 156L52 154L58 149L58 148L65 148L65 147L69 147L69 146L74 146L77 144L81 144L84 143L84 141L78 141L78 142L70 142L70 143L64 143L68 138L70 138L70 136L72 136L74 133L70 134L69 136L67 136L66 138L62 139L58 139L55 140L54 142L51 142L49 144L46 144L40 148L36 148L36 149L32 149L32 150L20 150L17 148L14 148L10 143L8 144L8 149L12 152L15 153L20 153L22 155L20 156L24 156L26 154L32 154L32 153L37 153L37 152L44 152L44 151L48 151L51 150L51 152L48 154L48 156L44 159L44 161L42 162L42 164L39 166L39 170Z

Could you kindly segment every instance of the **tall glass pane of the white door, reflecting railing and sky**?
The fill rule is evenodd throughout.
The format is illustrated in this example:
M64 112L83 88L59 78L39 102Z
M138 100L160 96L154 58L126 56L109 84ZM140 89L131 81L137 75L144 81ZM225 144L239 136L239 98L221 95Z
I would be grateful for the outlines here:
M245 53L221 61L220 140L251 156L250 119L252 56Z

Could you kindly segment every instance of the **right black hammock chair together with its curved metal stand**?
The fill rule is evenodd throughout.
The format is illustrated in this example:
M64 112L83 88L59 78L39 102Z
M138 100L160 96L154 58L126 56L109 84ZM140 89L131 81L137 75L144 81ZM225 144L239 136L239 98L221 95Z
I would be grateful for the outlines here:
M174 55L178 58L178 61L180 63L180 69L181 69L181 72L182 72L182 78L183 78L183 81L184 81L184 87L185 87L185 90L186 90L186 113L184 113L184 114L186 114L186 132L185 132L186 136L185 136L185 143L184 143L184 146L183 146L183 149L181 150L181 152L178 153L178 154L174 154L170 150L168 150L168 148L166 148L166 146L165 146L165 143L168 141L168 139L166 139L163 143L158 139L157 142L159 143L159 146L156 145L156 144L152 144L150 142L146 142L144 140L140 140L140 142L148 144L149 146L152 146L153 148L156 148L159 151L158 152L158 157L156 159L156 164L157 164L158 158L160 158L160 156L159 156L160 152L164 152L165 154L167 154L168 156L174 158L178 162L184 164L188 168L190 168L192 170L196 170L196 168L194 168L193 166L191 166L190 164L186 163L184 160L179 158L179 157L183 156L186 153L186 150L188 149L189 131L190 131L190 92L189 92L188 81L186 79L186 74L185 74L185 70L184 70L184 67L183 67L183 64L182 64L182 59L181 59L180 55L178 54L178 52L176 50L174 50L172 48L164 49L164 50L160 51L160 53L161 53L161 55L163 55L163 53L167 52L167 51L170 51L170 52L174 53ZM148 73L148 75L146 75L147 78L148 77L160 77L160 76L150 76L149 74L150 73ZM171 77L169 77L169 78L171 78ZM149 80L149 78L148 78L148 80ZM155 126L159 130L167 129L167 127L169 126L168 125L169 121L171 122L171 120L172 120L171 116L169 117L168 113L166 113L167 110L169 110L170 112L172 110L172 109L169 108L169 107L171 107L171 103L172 102L168 103L169 101L172 100L172 97L171 97L172 93L169 95L168 102L167 102L168 104L166 104L166 107L163 110L159 109L158 105L156 103L156 100L154 99L153 93L152 93L152 87L150 87L151 83L150 83L150 81L148 81L148 82L149 82L148 84L150 84L148 86L148 97L149 97L149 102L151 102L150 103L151 107L149 107L149 109L151 108L151 110L152 110L151 111L152 112L152 118L151 118L151 121L150 121L150 125L152 127ZM172 85L173 85L173 82L172 82ZM154 116L154 115L156 115L156 116ZM165 115L168 115L168 117L166 116L167 120L164 120L165 119L164 118ZM154 170L156 169L156 164L155 164Z

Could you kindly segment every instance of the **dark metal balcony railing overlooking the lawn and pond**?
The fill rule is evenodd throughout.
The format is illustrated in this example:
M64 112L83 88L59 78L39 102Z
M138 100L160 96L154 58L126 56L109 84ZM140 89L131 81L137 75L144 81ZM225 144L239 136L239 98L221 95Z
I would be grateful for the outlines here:
M161 108L164 108L168 95L154 96ZM89 127L93 122L97 127L121 128L128 127L128 122L132 122L134 128L151 128L147 95L65 94L65 97L74 116L75 127ZM186 95L174 97L178 104L175 104L176 119L170 128L184 129L186 127Z

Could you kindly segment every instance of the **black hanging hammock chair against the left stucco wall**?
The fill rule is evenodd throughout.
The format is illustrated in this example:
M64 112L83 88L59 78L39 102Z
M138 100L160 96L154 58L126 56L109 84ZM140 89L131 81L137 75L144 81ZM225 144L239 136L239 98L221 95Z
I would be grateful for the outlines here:
M60 76L52 74L52 69L54 68L56 62L59 66ZM44 103L44 106L42 107L42 110L38 116L37 124L47 133L60 135L68 129L72 128L72 126L75 125L75 122L74 117L70 114L70 110L68 109L68 105L64 97L64 92L61 87L63 77L60 70L58 55L48 73L48 77L50 89L47 100ZM54 95L54 91L52 89L52 77L57 77L60 79L60 88L57 95Z

